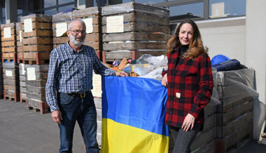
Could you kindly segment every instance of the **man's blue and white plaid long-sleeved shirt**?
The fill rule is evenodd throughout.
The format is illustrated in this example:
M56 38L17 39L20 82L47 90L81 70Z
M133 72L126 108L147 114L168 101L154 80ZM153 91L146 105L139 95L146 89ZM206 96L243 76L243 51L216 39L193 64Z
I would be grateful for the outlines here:
M51 112L59 109L56 91L80 93L92 89L92 70L96 74L115 75L113 69L105 67L97 58L94 49L83 45L79 52L66 43L52 50L48 80L45 88L46 102Z

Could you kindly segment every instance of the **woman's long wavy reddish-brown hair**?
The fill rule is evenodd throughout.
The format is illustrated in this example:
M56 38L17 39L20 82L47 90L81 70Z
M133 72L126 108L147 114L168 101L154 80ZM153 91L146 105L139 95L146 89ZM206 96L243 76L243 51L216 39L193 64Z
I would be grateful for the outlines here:
M188 60L193 60L197 58L202 53L207 53L208 48L204 48L202 43L202 38L200 35L200 30L197 27L196 23L190 19L184 19L176 28L174 35L169 39L167 42L167 52L171 53L174 51L174 48L181 46L179 41L179 32L183 24L188 23L193 27L193 36L190 40L190 44L188 47L188 52L184 53L183 57L187 58Z

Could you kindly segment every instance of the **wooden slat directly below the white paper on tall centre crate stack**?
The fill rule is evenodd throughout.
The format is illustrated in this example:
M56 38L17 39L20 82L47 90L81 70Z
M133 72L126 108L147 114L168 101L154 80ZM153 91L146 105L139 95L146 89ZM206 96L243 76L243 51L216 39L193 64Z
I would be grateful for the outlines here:
M104 34L103 41L165 41L165 34L148 34L141 32L123 32L120 34Z

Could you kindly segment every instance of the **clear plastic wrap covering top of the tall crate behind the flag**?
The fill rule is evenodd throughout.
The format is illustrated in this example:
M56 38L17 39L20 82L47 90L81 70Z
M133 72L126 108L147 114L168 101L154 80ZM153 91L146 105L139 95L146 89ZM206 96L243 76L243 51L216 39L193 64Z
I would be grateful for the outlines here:
M104 6L102 8L102 15L115 15L119 13L141 12L153 15L158 15L162 18L169 18L169 10L164 8L158 8L154 6L148 6L144 4L136 4L129 2L125 4Z

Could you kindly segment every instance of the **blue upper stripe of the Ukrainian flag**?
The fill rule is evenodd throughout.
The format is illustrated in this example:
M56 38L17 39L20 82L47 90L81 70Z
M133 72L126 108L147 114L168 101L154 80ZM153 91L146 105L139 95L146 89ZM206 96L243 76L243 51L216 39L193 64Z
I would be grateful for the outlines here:
M103 118L168 136L165 125L167 88L160 81L105 76L102 91Z

